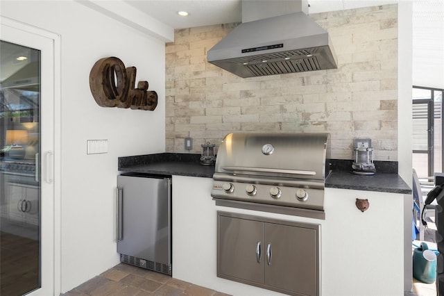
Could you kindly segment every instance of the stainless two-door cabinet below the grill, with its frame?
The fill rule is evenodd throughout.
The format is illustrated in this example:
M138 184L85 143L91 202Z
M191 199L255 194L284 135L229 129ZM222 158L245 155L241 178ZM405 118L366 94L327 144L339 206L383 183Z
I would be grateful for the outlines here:
M217 276L288 295L320 295L319 224L218 212Z

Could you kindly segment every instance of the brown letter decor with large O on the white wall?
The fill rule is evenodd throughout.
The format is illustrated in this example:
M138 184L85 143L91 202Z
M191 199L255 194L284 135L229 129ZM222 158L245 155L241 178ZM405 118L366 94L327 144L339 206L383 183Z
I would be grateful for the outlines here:
M102 107L154 110L157 92L148 91L148 81L139 81L135 88L136 67L126 68L114 56L101 58L89 72L89 88L96 103Z

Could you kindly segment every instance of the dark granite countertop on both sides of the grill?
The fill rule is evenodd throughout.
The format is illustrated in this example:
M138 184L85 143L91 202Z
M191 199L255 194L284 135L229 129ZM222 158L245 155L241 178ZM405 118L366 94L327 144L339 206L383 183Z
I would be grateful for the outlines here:
M393 172L395 165L384 163L376 167L389 167L385 172L374 175L352 174L346 167L350 161L334 161L332 172L325 180L326 188L342 188L377 192L411 194L411 188L398 173ZM345 164L345 165L343 165ZM214 165L200 165L200 154L160 153L141 156L119 157L119 171L143 174L199 176L212 178Z

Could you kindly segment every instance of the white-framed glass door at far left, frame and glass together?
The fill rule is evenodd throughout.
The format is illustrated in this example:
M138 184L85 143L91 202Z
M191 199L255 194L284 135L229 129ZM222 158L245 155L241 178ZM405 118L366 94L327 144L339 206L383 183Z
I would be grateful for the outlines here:
M55 39L0 22L0 295L54 295Z

